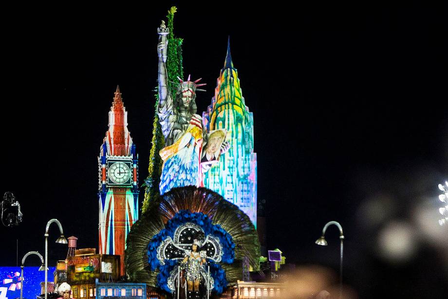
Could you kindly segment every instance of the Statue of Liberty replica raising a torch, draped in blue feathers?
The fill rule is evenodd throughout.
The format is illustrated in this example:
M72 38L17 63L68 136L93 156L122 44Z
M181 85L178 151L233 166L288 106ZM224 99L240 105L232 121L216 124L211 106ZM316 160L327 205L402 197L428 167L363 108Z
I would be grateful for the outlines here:
M165 148L160 151L164 161L160 177L160 195L173 187L202 186L202 173L209 167L201 167L203 146L206 144L206 130L203 130L202 117L196 114L196 92L205 91L197 87L199 80L186 81L178 77L179 85L173 99L168 86L166 67L168 28L162 21L157 52L159 56L158 93L159 106L157 114L165 138ZM224 138L223 140L224 141ZM221 143L221 153L228 150L228 143Z

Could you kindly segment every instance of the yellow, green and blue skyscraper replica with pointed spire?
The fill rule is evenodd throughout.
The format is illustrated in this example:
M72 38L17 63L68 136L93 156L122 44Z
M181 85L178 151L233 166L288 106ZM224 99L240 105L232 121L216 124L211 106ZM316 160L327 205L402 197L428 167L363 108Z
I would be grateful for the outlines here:
M236 204L257 223L257 154L254 153L253 113L244 103L237 69L230 56L217 79L215 96L203 113L208 131L226 129L229 151L204 176L204 186Z

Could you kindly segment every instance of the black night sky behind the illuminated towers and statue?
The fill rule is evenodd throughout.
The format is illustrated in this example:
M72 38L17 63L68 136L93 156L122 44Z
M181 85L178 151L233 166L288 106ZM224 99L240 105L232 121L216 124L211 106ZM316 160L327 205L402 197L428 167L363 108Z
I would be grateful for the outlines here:
M337 273L336 227L327 231L329 246L314 244L336 220L346 236L344 282L360 298L446 296L448 227L437 223L437 184L448 180L446 10L339 2L5 9L0 191L14 193L24 216L18 227L0 227L0 265L16 265L16 239L19 264L28 251L43 254L52 218L79 248L98 247L97 156L117 84L139 183L146 178L157 27L176 5L184 74L207 83L198 114L210 104L230 36L254 113L268 248L298 267ZM391 231L399 248L385 256ZM67 253L57 237L54 225L51 262Z

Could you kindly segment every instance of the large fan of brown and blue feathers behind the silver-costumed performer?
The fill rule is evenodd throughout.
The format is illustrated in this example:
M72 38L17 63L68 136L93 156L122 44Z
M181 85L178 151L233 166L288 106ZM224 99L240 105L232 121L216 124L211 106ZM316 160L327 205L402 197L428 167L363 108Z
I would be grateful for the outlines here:
M174 249L175 244L171 244L170 239L175 240L174 232L181 231L179 226L185 225L186 219L187 223L195 222L203 225L202 229L206 234L210 234L210 239L211 236L215 236L217 242L221 239L224 256L222 260L215 259L220 260L215 263L219 269L216 267L215 269L220 273L224 272L224 281L236 283L238 279L243 278L243 258L249 260L254 270L259 269L260 243L249 217L219 194L206 188L187 186L173 188L158 200L151 202L146 213L131 227L125 256L126 272L131 280L164 288L162 284L166 280L161 276L164 273L168 275L169 271L163 267L172 266L177 261L173 256L173 259L167 260L166 265L161 260L160 264L165 266L160 266L159 260L151 257L155 257L159 250L158 259L160 255L166 258L164 254L160 254L162 252L160 244L165 240L165 244L169 242L168 245ZM226 246L231 248L226 249ZM186 248L186 244L176 248ZM219 291L219 288L223 287L225 285L219 286L219 279L218 281L215 279L216 290Z

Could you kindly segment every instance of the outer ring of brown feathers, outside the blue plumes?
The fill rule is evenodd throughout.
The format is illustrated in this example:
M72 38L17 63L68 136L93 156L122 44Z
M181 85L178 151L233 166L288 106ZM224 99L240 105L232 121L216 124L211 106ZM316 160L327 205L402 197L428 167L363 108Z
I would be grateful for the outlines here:
M153 272L148 264L148 244L180 210L204 213L213 224L219 224L232 237L235 260L232 264L220 263L229 284L243 278L244 257L249 259L254 270L259 269L260 242L249 217L218 193L187 186L173 188L159 200L150 203L146 213L132 226L125 257L126 272L132 281L156 286L157 272Z

